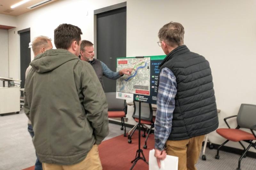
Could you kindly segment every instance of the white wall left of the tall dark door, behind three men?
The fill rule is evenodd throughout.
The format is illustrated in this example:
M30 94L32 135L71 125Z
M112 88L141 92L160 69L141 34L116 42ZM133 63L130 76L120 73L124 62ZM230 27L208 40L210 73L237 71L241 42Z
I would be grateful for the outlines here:
M53 40L54 29L60 24L68 23L79 26L83 32L82 39L93 42L93 11L122 2L124 0L61 0L18 16L17 27L9 30L9 56L10 63L12 63L10 76L20 79L20 37L17 31L30 28L31 41L39 35L48 36ZM86 11L88 11L88 16L83 14ZM55 48L53 41L52 44ZM31 61L33 58L34 54L31 49Z

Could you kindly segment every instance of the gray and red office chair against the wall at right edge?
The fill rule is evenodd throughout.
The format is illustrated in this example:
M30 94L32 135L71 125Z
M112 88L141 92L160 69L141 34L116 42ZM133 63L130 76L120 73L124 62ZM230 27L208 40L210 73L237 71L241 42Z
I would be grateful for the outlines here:
M237 127L235 129L231 129L227 122L227 119L232 117L236 117ZM242 153L242 156L238 161L238 167L236 168L236 170L241 170L241 160L243 159L243 157L246 156L246 152L250 149L251 146L256 149L256 142L253 143L253 140L256 140L256 135L254 132L254 130L256 130L256 105L241 104L238 114L226 117L224 118L224 121L227 124L228 128L219 128L216 131L220 136L226 138L227 140L218 147L215 159L220 159L220 148L229 140L239 142L244 148L244 152ZM252 133L241 130L240 128L250 129ZM241 141L249 143L249 146L245 149Z

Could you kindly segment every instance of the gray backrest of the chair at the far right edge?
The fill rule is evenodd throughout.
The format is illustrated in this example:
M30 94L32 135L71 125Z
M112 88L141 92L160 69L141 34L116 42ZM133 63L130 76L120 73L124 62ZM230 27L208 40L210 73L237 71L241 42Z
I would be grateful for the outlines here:
M252 127L256 124L256 105L241 104L237 114L237 124L241 128Z

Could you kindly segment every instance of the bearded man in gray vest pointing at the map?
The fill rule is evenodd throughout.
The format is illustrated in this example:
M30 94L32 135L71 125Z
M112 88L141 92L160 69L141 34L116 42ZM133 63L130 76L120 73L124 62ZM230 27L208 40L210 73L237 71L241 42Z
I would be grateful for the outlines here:
M91 41L83 40L81 42L80 55L81 55L81 58L80 58L81 60L87 61L92 65L93 69L95 70L100 80L103 90L104 90L103 76L116 80L122 77L124 74L130 75L132 72L132 69L129 69L129 68L125 68L120 71L114 72L110 70L105 63L94 58L94 48Z

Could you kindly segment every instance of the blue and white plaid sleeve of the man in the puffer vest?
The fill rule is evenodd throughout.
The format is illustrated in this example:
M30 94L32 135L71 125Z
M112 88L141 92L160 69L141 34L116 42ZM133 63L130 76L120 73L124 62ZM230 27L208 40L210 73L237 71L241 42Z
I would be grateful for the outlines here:
M172 115L175 108L175 96L177 93L176 78L167 67L160 72L157 94L157 110L155 121L155 148L164 150L172 130Z

